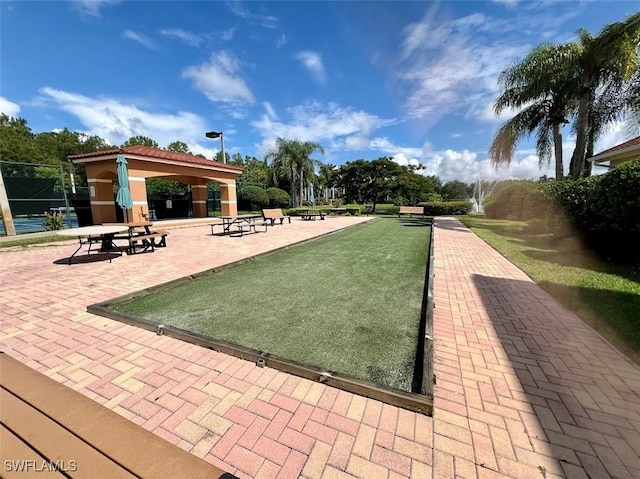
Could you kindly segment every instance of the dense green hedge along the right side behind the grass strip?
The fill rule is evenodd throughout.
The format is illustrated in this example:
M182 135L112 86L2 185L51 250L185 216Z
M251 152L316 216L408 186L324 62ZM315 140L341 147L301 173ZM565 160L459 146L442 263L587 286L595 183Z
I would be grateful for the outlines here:
M640 264L640 158L578 181L506 183L485 203L487 218L540 220L532 234L573 229L599 255Z

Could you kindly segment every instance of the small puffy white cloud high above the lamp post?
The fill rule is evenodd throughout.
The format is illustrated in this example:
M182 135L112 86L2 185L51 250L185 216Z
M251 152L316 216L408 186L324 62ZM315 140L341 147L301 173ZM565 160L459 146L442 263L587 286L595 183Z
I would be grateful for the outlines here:
M238 117L243 114L242 106L255 103L253 93L238 75L239 70L238 59L232 53L222 51L213 54L209 62L186 68L182 76L192 79L195 87L209 100L230 106Z

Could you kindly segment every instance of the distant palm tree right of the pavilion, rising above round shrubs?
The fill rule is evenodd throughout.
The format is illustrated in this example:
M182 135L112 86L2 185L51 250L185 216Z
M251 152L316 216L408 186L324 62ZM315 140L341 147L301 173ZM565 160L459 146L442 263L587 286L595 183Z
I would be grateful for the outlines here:
M312 177L315 174L315 167L320 164L318 160L310 158L314 151L324 154L324 149L318 143L277 138L275 147L265 156L266 160L271 161L274 184L278 185L279 177L287 177L291 185L291 199L298 206L302 206L305 176ZM299 186L300 191L297 201L296 186Z

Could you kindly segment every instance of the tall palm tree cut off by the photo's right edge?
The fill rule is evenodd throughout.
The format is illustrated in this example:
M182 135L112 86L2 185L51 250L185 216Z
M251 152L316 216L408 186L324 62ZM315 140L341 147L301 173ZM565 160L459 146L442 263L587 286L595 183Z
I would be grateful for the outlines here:
M571 157L570 173L578 179L584 170L589 139L590 112L596 92L605 85L623 85L634 75L638 66L640 46L640 12L624 21L605 26L592 36L578 30L579 50L563 60L576 71L578 79L578 112L576 117L576 147Z

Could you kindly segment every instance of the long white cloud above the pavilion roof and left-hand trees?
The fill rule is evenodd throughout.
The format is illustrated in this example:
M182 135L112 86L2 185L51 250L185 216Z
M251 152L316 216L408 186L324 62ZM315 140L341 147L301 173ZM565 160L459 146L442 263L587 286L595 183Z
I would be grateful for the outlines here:
M87 134L98 135L114 145L122 144L131 136L144 135L159 145L184 141L195 151L194 145L205 141L205 122L193 113L153 112L116 98L91 98L49 87L42 88L40 93L48 106L75 116Z

